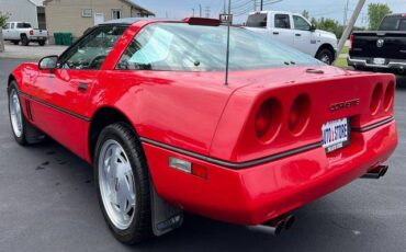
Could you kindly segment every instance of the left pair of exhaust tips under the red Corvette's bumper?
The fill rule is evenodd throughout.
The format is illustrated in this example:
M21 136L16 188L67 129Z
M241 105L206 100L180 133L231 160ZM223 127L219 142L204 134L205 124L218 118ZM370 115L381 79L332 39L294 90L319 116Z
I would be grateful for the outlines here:
M283 230L290 230L294 222L295 217L287 215L271 219L260 226L251 226L249 229L278 237Z

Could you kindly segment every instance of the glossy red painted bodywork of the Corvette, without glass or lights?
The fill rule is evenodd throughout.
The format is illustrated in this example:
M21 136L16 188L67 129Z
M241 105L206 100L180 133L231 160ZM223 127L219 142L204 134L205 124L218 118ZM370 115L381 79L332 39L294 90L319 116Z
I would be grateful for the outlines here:
M365 128L393 116L393 104L371 115L374 88L394 84L392 75L356 73L318 67L230 72L122 71L115 65L145 25L132 25L111 50L100 71L41 71L25 64L13 71L19 89L32 102L35 126L91 162L89 129L103 107L126 116L142 138L232 163L258 160L322 140L322 125L343 117ZM78 90L87 83L88 90ZM300 94L311 100L309 122L301 134L287 128L289 111ZM281 103L278 136L262 144L253 121L268 99ZM357 106L330 111L331 104L359 100ZM24 113L26 115L25 106ZM393 121L351 134L350 146L327 154L322 148L243 170L213 164L143 142L159 195L184 209L236 224L261 224L316 199L384 162L397 145ZM168 167L179 157L207 169L206 180Z

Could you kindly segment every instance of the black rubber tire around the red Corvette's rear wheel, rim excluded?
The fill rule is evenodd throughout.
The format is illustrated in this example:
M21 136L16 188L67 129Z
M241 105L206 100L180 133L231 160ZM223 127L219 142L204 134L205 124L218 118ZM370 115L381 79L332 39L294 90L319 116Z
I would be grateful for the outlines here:
M125 230L117 229L110 219L103 204L100 180L99 180L99 159L101 148L108 140L117 141L124 149L128 161L131 163L134 186L136 193L136 207L134 219L129 227ZM124 123L116 123L106 126L98 138L94 157L94 181L97 184L97 192L99 205L103 213L104 219L114 237L126 244L139 243L153 237L151 230L151 208L150 208L150 191L149 191L149 169L138 137L135 131Z

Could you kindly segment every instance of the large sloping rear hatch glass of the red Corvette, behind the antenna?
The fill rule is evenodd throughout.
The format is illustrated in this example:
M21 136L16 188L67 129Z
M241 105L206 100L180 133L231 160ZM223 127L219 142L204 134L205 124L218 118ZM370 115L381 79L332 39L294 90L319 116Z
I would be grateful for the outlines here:
M158 23L145 27L122 56L119 69L222 71L227 27ZM253 32L232 27L230 70L323 65L313 57Z

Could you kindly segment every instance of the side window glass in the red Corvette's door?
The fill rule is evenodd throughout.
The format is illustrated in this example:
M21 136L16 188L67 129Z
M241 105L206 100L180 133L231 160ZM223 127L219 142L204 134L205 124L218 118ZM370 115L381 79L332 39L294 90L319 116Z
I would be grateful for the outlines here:
M94 28L60 57L59 67L65 69L100 69L125 30L126 26L113 25Z

